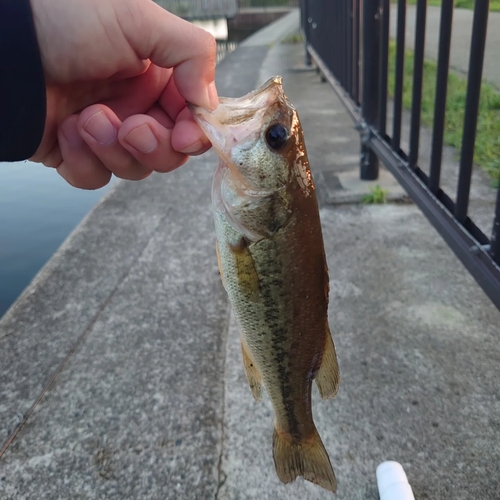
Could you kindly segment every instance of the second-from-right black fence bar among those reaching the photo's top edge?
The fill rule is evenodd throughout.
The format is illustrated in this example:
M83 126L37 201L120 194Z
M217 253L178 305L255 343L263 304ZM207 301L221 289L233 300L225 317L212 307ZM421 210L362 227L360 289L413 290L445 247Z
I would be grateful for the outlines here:
M434 194L439 190L439 179L441 177L444 122L446 117L446 91L448 86L448 68L450 65L451 27L453 24L454 4L454 0L443 0L441 7L436 100L434 103L434 132L432 134L431 166L429 172L429 189Z

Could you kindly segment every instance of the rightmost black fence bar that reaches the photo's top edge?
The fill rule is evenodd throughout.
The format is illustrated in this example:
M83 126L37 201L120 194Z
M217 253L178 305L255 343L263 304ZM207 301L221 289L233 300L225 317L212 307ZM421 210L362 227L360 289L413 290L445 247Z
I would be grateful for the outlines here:
M467 210L469 207L469 191L472 177L472 162L474 160L474 146L476 144L477 115L481 94L481 80L483 77L483 59L489 5L490 0L476 0L474 6L464 132L462 135L460 171L458 174L457 202L455 204L455 217L461 224L464 224L467 219Z

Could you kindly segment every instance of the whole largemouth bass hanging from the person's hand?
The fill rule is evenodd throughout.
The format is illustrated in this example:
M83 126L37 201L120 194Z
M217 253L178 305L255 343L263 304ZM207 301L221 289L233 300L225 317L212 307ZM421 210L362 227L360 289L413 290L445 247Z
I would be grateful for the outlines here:
M312 381L334 397L340 375L328 326L328 269L318 203L295 108L281 77L215 111L191 107L220 163L212 203L217 256L256 400L275 414L283 483L303 476L336 491L311 409Z

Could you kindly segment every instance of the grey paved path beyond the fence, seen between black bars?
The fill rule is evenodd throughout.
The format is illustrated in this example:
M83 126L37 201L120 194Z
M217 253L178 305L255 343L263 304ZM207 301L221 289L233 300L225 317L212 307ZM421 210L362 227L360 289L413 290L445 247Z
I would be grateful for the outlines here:
M414 47L416 7L407 8L406 46ZM397 5L391 4L391 36L396 35ZM426 49L425 55L429 59L436 59L439 44L439 23L441 19L440 7L428 7L426 22ZM450 55L451 67L457 71L467 73L469 66L470 41L472 33L473 11L455 9L453 14L452 49ZM484 58L484 79L500 88L500 12L490 12L488 18L488 32Z

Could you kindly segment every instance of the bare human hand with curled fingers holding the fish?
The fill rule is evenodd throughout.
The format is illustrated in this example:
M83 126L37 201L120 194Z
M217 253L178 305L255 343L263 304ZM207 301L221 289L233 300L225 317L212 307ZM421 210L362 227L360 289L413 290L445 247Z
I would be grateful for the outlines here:
M47 85L31 158L73 186L139 180L210 143L186 101L213 109L214 38L150 0L31 0Z

